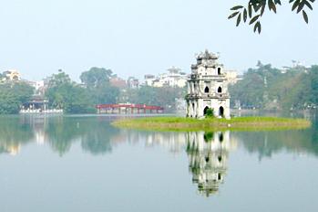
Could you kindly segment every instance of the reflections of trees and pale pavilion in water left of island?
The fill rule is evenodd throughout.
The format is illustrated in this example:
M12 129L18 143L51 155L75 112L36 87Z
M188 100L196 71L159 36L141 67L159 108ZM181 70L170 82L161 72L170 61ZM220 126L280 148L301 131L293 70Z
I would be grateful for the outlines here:
M73 143L80 142L85 152L111 152L111 137L118 129L97 117L0 117L0 154L18 154L26 143L48 143L59 155L67 154Z

